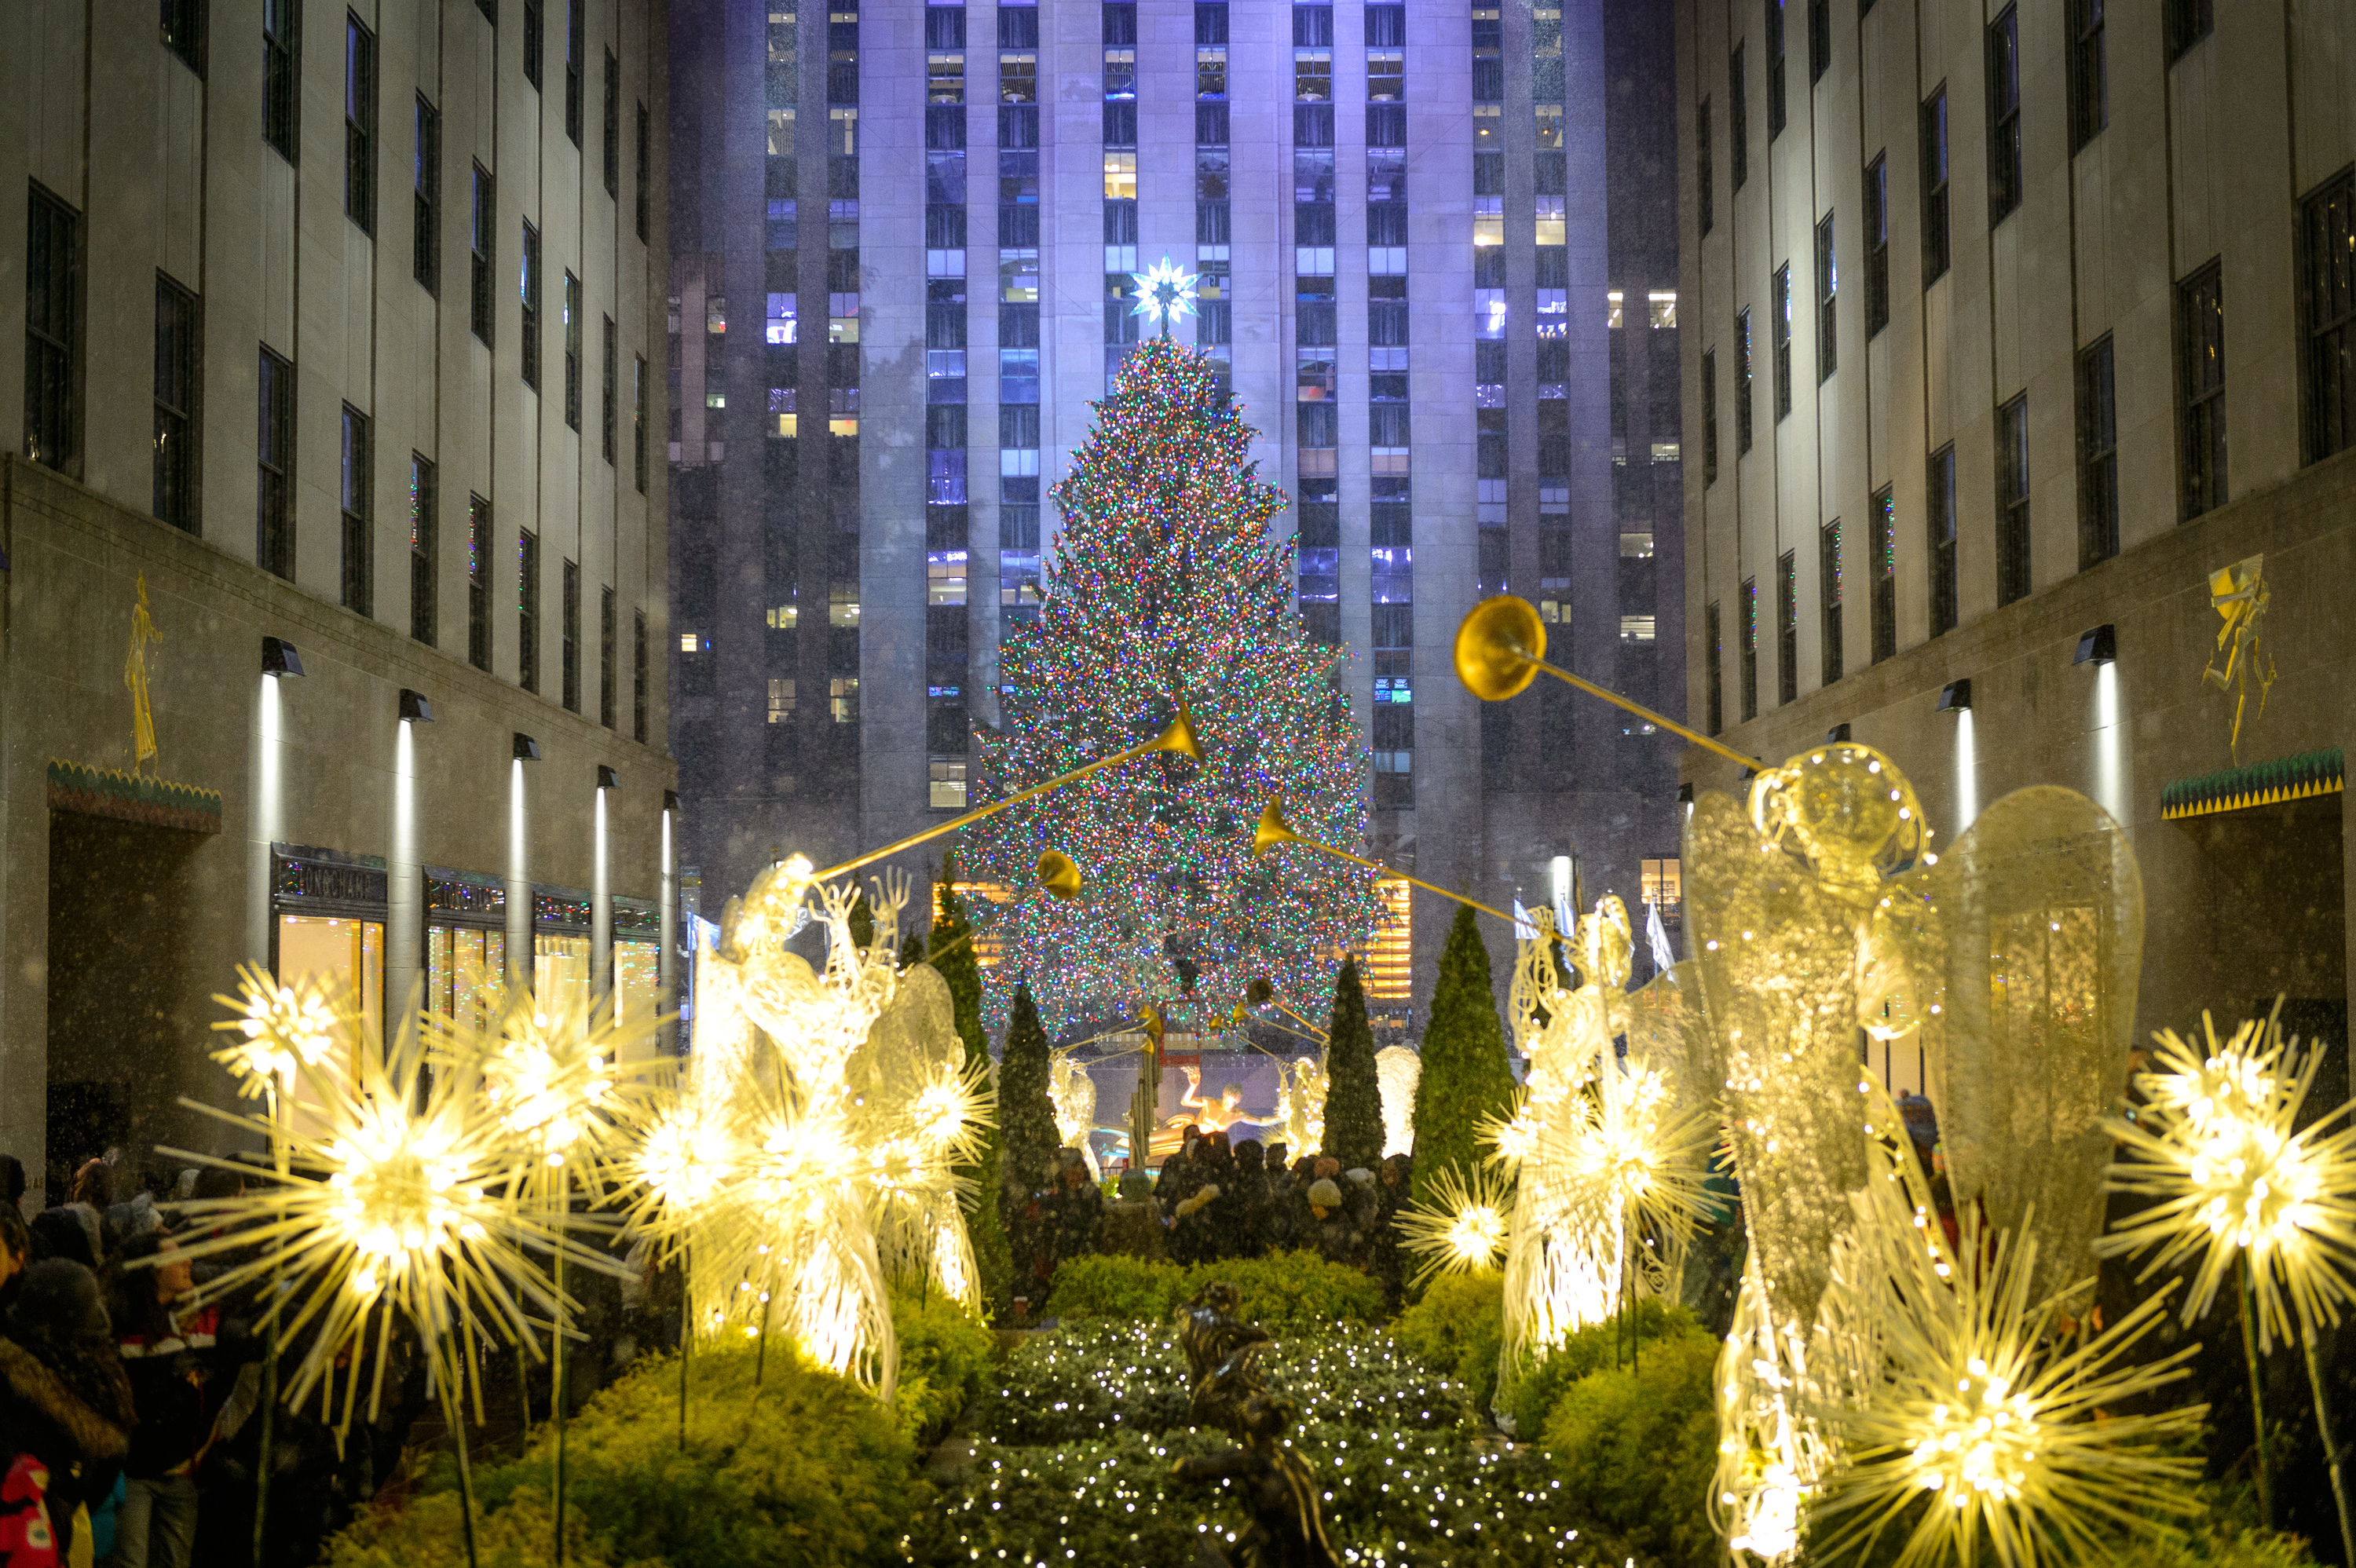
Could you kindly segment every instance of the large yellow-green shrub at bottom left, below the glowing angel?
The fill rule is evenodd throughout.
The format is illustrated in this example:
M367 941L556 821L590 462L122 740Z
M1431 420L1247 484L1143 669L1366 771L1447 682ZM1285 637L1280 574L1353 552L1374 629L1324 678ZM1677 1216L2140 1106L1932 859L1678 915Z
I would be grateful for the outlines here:
M754 1351L697 1351L688 1443L679 1443L679 1361L650 1358L573 1417L575 1561L634 1568L855 1568L898 1563L931 1488L916 1453L858 1384L770 1347L754 1398ZM474 1476L478 1537L514 1542L502 1563L549 1561L554 1434ZM339 1535L330 1568L462 1563L457 1474L438 1464L410 1507ZM532 1528L532 1521L537 1530ZM535 1544L537 1542L537 1544ZM485 1561L490 1561L485 1556Z

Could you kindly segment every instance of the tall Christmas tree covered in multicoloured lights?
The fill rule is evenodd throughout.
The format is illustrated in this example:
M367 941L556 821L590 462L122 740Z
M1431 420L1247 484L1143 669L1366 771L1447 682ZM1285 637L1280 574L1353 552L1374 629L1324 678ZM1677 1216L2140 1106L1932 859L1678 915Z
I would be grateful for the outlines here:
M1251 979L1308 998L1374 923L1362 869L1251 852L1272 796L1308 838L1359 848L1366 753L1293 607L1284 494L1246 461L1251 426L1209 360L1154 339L1051 499L1063 532L1039 617L1001 650L1006 727L982 735L980 800L1110 756L1180 706L1204 760L1147 753L968 829L973 873L1027 888L1044 850L1079 862L1070 902L1032 892L999 921L1004 986L1027 982L1058 1026L1133 1017L1232 1022Z

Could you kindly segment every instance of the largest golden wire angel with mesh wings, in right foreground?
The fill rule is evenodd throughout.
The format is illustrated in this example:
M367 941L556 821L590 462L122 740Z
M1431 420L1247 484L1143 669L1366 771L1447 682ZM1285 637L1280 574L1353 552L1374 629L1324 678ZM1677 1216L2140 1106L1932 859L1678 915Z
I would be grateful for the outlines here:
M1873 1052L1918 1052L1955 1208L2010 1231L2024 1290L2090 1271L2102 1116L2125 1081L2142 881L2125 833L2066 789L1991 805L1941 859L1906 777L1828 744L1748 805L1687 822L1689 942L1751 1238L1720 1363L1718 1516L1767 1561L1842 1464L1880 1264L1857 1194L1882 1140ZM1878 1132L1873 1130L1878 1128ZM1864 1293L1864 1295L1861 1295ZM1791 1528L1786 1528L1786 1523Z

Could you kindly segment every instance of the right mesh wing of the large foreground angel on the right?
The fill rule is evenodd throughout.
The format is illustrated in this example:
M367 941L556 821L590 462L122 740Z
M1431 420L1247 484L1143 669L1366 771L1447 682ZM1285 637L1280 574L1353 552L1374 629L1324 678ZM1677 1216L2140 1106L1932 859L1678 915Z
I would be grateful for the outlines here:
M2144 881L2125 829L2071 789L2005 796L1934 873L1944 1050L1927 1052L1955 1203L2036 1241L2031 1295L2094 1269L2099 1118L2127 1081Z

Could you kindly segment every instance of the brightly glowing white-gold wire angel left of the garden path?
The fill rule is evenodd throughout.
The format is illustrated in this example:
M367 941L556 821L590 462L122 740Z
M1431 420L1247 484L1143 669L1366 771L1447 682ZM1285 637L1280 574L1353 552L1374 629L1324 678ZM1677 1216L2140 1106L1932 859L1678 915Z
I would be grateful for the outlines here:
M990 1090L966 1069L947 982L895 965L907 883L874 883L869 946L851 937L855 899L794 857L730 902L702 963L688 1083L657 1111L667 1170L641 1168L638 1212L690 1250L695 1335L782 1323L891 1401L888 1281L928 1278L964 1302L978 1290L957 1165L978 1156ZM813 904L818 968L785 949ZM683 1132L714 1123L733 1130L726 1156L683 1158Z

